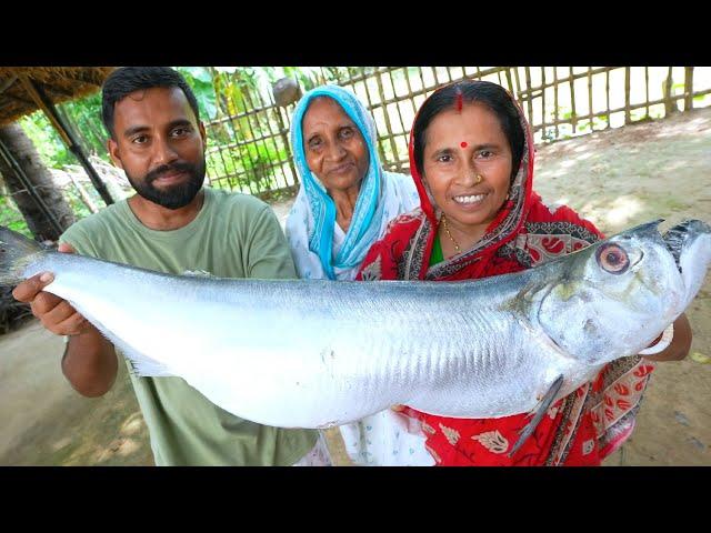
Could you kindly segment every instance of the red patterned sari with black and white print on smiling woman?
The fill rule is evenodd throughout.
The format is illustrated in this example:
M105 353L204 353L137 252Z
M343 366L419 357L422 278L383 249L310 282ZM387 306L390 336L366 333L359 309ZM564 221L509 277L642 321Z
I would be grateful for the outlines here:
M527 144L521 165L509 200L479 243L430 266L440 212L414 165L411 138L410 162L421 208L390 223L383 239L370 249L357 279L488 278L533 268L603 238L570 208L549 208L533 191L531 134L520 110L519 115ZM530 420L525 414L451 419L410 408L404 412L421 421L427 447L439 465L599 465L631 434L653 368L637 355L609 363L592 382L553 403L512 457L508 452Z

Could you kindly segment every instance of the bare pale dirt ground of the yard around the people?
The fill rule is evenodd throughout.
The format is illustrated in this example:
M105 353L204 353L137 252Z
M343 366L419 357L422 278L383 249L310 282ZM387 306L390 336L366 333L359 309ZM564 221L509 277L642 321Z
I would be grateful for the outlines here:
M542 145L535 189L607 233L711 222L711 108ZM282 223L289 207L274 205ZM632 438L605 465L711 465L711 275L687 314L690 356L658 366ZM61 374L62 350L37 322L0 336L0 465L152 464L126 366L111 392L86 399Z

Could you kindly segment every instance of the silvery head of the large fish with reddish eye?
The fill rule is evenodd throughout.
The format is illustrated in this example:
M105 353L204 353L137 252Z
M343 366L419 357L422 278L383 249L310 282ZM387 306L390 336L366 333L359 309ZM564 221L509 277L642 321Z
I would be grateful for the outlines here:
M602 364L648 346L693 300L711 262L711 228L661 220L639 225L541 268L533 321L567 354Z

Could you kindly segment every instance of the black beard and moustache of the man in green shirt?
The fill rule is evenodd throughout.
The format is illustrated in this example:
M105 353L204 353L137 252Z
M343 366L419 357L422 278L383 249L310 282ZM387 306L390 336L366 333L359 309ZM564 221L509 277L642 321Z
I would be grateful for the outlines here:
M151 170L142 180L136 180L128 172L126 177L136 190L136 192L146 200L162 205L167 209L180 209L188 205L198 194L204 183L204 159L198 164L184 162L164 164L158 169ZM186 172L188 179L183 183L170 185L164 189L153 187L153 181L167 172Z

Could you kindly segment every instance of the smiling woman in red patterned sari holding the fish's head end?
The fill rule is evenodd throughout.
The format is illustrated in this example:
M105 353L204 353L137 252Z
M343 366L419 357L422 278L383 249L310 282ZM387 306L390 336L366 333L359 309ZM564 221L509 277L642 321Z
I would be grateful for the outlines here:
M358 279L487 278L530 269L603 239L570 208L548 207L533 191L529 125L508 91L494 83L461 81L437 90L415 117L410 167L421 207L391 222ZM452 419L407 406L404 412L421 422L439 465L599 465L631 434L652 361L687 355L685 316L670 330L671 342L664 335L657 349L652 344L654 355L617 360L552 403L513 454L531 420L525 413Z

